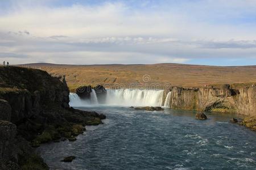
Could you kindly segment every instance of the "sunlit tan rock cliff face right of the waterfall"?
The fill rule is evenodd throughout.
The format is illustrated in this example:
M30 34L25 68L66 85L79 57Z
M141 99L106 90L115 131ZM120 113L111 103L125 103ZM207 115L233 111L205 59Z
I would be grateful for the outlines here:
M171 87L170 108L238 113L256 116L256 87L253 84L224 84L207 87Z

